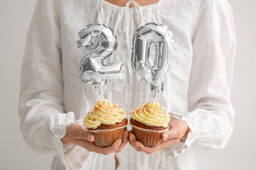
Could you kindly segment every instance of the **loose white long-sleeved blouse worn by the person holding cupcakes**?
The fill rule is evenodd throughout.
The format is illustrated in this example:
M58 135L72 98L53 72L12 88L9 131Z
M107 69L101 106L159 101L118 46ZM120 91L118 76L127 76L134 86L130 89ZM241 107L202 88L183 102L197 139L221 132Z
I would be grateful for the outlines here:
M104 0L38 0L28 30L21 70L21 131L36 152L58 154L52 169L197 169L191 145L223 148L233 132L230 88L235 55L233 12L226 0L160 0L129 8ZM65 127L84 118L98 96L80 81L78 31L89 23L111 27L117 50L107 62L123 62L124 79L107 83L105 98L129 111L151 101L150 86L137 81L130 64L132 38L145 23L163 23L174 34L171 70L159 103L185 120L186 140L153 154L129 144L108 156L60 142ZM62 164L61 164L62 162ZM64 166L63 166L64 164Z

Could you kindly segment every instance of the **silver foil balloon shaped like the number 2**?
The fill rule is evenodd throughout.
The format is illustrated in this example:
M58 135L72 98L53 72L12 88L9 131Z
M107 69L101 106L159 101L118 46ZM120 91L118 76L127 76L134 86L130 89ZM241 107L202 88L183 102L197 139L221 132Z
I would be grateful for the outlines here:
M76 45L90 50L81 61L81 80L85 83L92 83L97 93L104 94L107 81L119 81L124 78L121 73L122 62L104 62L112 55L112 51L116 50L117 37L111 28L99 23L89 24L80 30L78 37Z

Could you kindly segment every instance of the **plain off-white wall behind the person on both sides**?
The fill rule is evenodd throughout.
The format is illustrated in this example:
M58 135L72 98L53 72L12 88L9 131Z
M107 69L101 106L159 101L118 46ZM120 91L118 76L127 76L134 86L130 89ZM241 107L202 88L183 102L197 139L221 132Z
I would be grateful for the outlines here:
M85 0L86 1L86 0ZM232 103L235 130L223 150L196 149L201 170L256 169L256 1L230 0L238 47ZM0 169L50 169L53 155L36 154L19 130L18 89L35 0L0 0Z

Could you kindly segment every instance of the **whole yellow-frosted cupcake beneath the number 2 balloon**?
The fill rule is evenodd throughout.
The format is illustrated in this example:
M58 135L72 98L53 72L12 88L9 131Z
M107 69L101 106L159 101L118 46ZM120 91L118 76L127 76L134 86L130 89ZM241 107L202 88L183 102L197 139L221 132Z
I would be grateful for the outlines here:
M127 115L122 108L104 99L97 101L84 118L84 125L95 136L94 143L100 147L112 145L115 140L122 140L127 126Z

